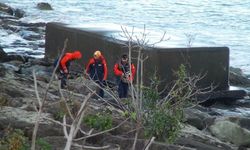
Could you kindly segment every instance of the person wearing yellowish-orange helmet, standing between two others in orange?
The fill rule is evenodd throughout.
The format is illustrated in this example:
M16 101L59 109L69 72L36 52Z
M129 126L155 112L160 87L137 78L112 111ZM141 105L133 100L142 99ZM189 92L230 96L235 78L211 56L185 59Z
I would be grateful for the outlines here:
M91 58L86 66L86 74L99 84L100 88L98 95L103 98L104 96L104 82L107 80L108 69L107 63L102 53L97 50L94 52L93 58Z

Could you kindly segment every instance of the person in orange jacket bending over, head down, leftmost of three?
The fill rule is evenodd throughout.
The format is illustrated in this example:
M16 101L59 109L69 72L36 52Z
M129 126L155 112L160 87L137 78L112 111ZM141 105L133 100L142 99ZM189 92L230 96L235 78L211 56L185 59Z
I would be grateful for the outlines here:
M74 52L65 53L61 60L59 61L59 80L61 80L61 88L65 88L67 85L67 79L69 75L70 63L73 60L80 59L82 54L80 51L76 50ZM58 61L58 60L57 60ZM56 62L57 63L57 62Z

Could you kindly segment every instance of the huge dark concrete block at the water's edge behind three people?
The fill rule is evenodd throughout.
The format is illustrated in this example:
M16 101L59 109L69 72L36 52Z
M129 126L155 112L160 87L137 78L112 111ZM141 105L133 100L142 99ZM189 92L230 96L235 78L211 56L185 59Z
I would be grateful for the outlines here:
M96 49L102 51L107 59L109 79L114 79L113 65L119 56L127 52L115 40L113 34L120 31L100 28L77 28L60 23L48 23L46 26L46 58L55 58L63 48L63 42L69 39L67 49L80 50L83 58L78 61L83 69ZM164 82L162 87L174 80L173 71L180 64L187 66L191 74L206 74L199 82L202 87L217 85L216 90L228 90L229 49L227 47L195 48L147 48L144 53L148 60L144 64L144 80L149 81L155 70ZM135 62L135 61L134 61ZM147 82L146 82L147 83Z

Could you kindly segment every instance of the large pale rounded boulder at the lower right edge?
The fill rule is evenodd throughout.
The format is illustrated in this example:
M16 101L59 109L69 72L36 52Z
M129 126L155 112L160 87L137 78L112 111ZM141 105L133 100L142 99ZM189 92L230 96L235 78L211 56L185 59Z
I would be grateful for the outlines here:
M229 141L238 146L250 146L250 130L230 121L230 118L217 119L209 130L215 137L223 141Z

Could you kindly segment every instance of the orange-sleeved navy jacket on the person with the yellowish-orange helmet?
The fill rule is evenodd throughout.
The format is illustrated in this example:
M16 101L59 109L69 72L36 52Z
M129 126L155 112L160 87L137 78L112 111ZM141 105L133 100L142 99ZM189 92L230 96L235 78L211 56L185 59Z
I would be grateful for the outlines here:
M100 65L103 65L103 70L100 69L98 66L98 63ZM98 77L99 80L107 80L108 76L108 68L107 68L107 62L103 56L100 56L98 60L95 60L94 58L91 58L86 66L86 72L90 75L90 77L93 79L94 76ZM95 74L97 73L97 74ZM94 79L96 80L96 79Z

